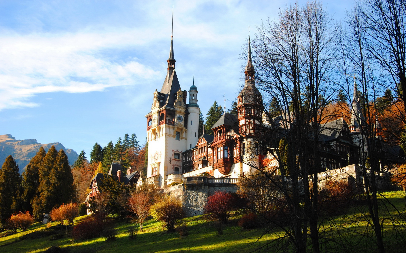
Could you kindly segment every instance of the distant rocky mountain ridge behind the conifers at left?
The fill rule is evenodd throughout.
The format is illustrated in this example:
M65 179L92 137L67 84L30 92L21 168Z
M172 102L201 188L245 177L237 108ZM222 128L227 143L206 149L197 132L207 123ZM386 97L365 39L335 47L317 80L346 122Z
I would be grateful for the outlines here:
M37 154L40 147L44 147L45 151L48 152L48 149L52 146L55 146L58 151L60 149L65 151L70 165L78 159L76 151L66 149L60 142L41 144L36 139L16 140L11 134L3 134L0 135L0 166L3 165L7 156L12 155L18 164L19 172L22 173L31 158Z

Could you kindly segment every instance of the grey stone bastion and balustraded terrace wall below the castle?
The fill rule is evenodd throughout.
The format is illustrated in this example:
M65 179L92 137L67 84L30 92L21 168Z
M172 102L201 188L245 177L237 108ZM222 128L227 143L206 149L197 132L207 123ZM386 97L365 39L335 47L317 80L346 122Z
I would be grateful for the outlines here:
M184 183L164 189L164 192L179 198L187 217L202 215L207 197L215 191L236 192L236 178L211 178L209 176L187 176Z

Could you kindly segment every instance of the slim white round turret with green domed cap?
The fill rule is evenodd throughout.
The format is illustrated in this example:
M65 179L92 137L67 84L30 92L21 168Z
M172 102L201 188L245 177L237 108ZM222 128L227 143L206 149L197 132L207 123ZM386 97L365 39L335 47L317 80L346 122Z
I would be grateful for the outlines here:
M197 87L193 85L189 89L189 104L188 104L188 135L186 142L186 149L191 149L196 146L199 140L199 114L200 108L197 104Z

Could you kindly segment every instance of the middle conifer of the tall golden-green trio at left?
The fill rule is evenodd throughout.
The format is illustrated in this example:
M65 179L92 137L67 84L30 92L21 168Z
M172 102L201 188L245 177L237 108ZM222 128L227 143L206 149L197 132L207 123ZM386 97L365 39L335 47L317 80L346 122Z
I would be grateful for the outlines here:
M39 166L39 187L38 195L32 200L32 213L37 220L41 220L43 213L50 212L54 207L54 196L51 192L51 173L54 168L58 152L52 146L43 159L43 163Z

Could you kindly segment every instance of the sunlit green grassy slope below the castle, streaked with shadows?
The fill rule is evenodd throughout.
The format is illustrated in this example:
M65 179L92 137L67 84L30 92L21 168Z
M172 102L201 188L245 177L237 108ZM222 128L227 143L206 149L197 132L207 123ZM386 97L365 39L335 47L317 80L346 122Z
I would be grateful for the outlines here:
M390 198L398 209L404 210L405 198L402 192L384 193L386 198ZM391 213L393 208L391 208ZM356 211L358 212L358 211ZM355 212L355 213L356 213ZM351 212L350 213L354 213ZM358 215L355 215L356 217ZM78 219L82 219L79 217ZM95 238L88 241L78 241L71 244L70 238L61 238L58 240L50 240L49 236L42 238L19 240L23 234L29 234L36 231L46 229L46 225L37 223L32 225L25 233L18 232L17 234L0 238L0 252L2 253L17 253L17 252L42 252L46 248L57 245L67 249L69 252L249 252L255 249L258 243L264 242L265 237L261 238L256 245L252 245L262 233L260 229L243 230L236 225L237 219L231 219L230 223L225 227L224 234L217 235L214 228L207 223L202 216L190 217L184 219L189 227L189 235L184 238L179 238L177 233L167 234L162 228L162 223L150 219L144 223L144 232L138 232L136 240L130 240L125 234L130 223L118 222L116 229L118 232L117 240L106 242L104 238ZM341 225L343 230L353 226L353 219L337 217L335 223ZM55 222L54 222L55 223ZM324 224L327 227L331 221ZM55 224L54 224L55 225ZM357 232L348 238L350 244L358 246L363 252L374 252L374 243L370 239L365 239L363 230L368 227L366 221L358 223L358 227L354 230ZM359 233L358 233L359 232ZM395 239L392 239L395 240ZM402 252L397 244L388 244L388 252Z

